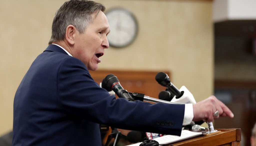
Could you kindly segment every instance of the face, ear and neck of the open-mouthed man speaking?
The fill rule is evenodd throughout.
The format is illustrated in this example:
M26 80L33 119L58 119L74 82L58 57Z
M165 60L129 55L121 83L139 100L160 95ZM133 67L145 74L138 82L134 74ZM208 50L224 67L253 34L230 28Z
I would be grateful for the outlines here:
M104 54L104 49L109 48L107 35L110 32L108 19L100 11L92 14L92 23L84 33L76 33L73 56L80 59L89 70L96 70L99 57Z

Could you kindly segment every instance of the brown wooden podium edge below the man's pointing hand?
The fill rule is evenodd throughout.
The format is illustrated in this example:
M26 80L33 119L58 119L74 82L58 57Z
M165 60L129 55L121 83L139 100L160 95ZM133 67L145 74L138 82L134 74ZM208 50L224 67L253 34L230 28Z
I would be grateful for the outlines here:
M239 146L241 141L241 129L217 129L216 134L201 135L196 138L169 144L169 146Z

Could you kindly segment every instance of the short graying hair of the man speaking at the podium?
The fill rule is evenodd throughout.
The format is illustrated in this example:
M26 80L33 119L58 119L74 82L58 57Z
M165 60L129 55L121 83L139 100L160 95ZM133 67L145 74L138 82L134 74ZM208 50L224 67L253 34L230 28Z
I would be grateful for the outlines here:
M73 25L83 33L92 23L91 14L105 11L105 6L88 0L70 0L65 2L56 12L52 22L52 34L49 44L64 40L66 28Z

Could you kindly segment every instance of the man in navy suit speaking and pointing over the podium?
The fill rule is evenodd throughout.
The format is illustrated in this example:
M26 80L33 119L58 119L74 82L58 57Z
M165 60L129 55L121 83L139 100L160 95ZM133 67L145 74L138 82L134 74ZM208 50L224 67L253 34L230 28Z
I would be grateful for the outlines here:
M109 23L102 4L65 2L52 23L47 49L32 63L14 99L13 145L101 145L99 124L180 135L192 120L233 113L214 96L195 105L154 105L115 99L94 82ZM185 115L185 116L184 116Z

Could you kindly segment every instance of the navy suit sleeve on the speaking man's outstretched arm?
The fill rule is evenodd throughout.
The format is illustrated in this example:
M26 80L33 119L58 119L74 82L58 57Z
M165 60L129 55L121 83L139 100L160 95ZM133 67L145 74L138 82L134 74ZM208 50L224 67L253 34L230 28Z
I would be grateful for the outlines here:
M73 116L121 129L181 134L184 105L115 99L99 87L78 59L62 62L57 86L60 105Z

